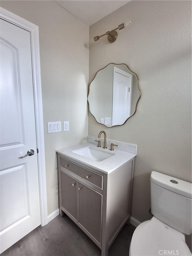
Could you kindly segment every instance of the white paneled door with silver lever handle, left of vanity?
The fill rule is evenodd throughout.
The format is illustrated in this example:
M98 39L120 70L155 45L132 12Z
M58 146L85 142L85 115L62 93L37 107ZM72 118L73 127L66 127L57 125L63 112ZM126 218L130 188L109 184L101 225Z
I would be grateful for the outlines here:
M30 32L1 19L0 252L41 224ZM34 155L24 158L29 149Z

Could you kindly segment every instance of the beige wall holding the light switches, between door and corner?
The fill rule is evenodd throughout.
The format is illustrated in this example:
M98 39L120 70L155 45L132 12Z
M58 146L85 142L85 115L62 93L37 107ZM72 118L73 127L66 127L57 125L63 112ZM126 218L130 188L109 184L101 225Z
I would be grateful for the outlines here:
M48 214L58 209L55 149L86 141L89 28L54 1L1 1L1 7L39 26ZM47 122L70 131L47 133Z

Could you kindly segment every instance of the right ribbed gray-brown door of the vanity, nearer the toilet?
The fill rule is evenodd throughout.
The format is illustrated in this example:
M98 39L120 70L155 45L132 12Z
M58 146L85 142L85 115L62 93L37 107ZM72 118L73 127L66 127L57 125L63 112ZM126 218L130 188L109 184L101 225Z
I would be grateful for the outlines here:
M101 244L102 198L95 190L78 182L78 211L81 224Z

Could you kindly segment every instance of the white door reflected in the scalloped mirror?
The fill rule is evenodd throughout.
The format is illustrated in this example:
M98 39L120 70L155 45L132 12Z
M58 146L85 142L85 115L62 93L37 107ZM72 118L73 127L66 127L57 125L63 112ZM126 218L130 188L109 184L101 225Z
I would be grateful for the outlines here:
M131 74L114 67L112 125L122 125L131 114Z

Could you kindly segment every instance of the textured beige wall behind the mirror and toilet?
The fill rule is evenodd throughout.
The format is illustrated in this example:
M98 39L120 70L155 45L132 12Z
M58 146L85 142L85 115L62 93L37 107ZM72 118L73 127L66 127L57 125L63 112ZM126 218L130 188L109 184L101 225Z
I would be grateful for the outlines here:
M89 81L110 62L126 63L139 76L136 114L121 127L106 128L89 114L88 134L138 145L132 216L151 218L150 173L191 182L191 2L131 1L90 27L90 39L131 20L90 44Z

